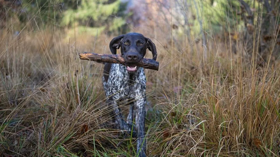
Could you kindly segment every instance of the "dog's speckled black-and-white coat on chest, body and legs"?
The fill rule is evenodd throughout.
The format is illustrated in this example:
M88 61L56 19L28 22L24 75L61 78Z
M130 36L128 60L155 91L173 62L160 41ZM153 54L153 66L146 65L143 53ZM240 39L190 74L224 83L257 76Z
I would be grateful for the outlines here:
M112 117L119 124L119 129L125 131L128 135L131 134L131 129L133 128L133 108L135 106L136 132L133 131L133 136L137 137L137 149L142 148L140 156L146 156L146 142L144 140L146 76L144 69L138 67L136 72L128 73L126 66L112 64L108 81L106 82L103 77L103 87L107 96L109 108L113 110L113 113L111 113ZM118 106L120 102L129 103L131 105L126 122Z

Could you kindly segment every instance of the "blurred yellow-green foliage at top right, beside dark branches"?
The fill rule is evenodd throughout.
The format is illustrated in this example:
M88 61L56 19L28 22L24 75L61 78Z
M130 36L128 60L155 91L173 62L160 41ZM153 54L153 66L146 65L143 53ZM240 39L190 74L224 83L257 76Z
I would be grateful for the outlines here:
M258 8L258 3L253 3L254 1L251 0L244 1L252 9ZM187 16L183 18L187 18L190 24L185 24L185 27L190 27L194 36L201 34L201 28L207 34L219 34L221 31L235 30L236 25L244 26L244 19L241 17L243 12L238 0L185 0L178 3L181 6L180 9L186 12L184 14ZM185 32L181 31L181 33Z

